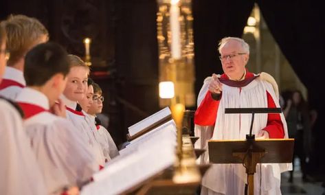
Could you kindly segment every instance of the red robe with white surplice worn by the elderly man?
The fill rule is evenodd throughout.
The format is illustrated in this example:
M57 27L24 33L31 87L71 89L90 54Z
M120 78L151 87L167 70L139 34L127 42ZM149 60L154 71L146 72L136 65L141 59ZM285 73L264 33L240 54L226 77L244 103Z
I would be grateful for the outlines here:
M247 71L241 81L229 80L223 74L219 80L223 83L221 96L212 98L208 91L211 78L207 78L199 93L197 111L194 116L195 135L200 139L196 148L208 149L209 139L245 139L249 133L251 115L225 115L225 108L274 108L280 107L277 97L276 82L266 73L262 76ZM287 138L287 124L280 114L255 115L253 134L266 130L270 138ZM201 158L201 163L209 163L208 152ZM254 193L278 194L280 192L280 172L291 169L289 164L258 165L254 175L256 188ZM260 172L260 170L262 172ZM262 179L260 176L262 175ZM247 182L245 168L239 164L214 164L202 179L203 192L208 194L243 194ZM229 182L232 181L232 182ZM261 181L261 183L260 183Z

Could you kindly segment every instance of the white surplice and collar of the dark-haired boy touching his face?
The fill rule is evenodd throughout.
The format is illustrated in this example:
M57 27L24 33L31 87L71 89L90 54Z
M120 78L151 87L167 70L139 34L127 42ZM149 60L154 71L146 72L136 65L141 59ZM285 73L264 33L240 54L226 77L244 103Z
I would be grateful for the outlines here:
M47 97L28 87L16 101L49 109ZM81 186L98 169L91 151L69 120L43 111L25 119L23 125L41 166L48 194L57 194L71 185Z

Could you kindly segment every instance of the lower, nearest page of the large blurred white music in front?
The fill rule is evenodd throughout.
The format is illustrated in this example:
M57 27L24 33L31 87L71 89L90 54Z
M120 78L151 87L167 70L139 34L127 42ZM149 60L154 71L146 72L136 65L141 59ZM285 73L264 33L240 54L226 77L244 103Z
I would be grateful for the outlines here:
M94 174L93 183L82 188L81 194L120 194L170 167L175 162L175 141L164 137L150 147L142 147L111 163Z

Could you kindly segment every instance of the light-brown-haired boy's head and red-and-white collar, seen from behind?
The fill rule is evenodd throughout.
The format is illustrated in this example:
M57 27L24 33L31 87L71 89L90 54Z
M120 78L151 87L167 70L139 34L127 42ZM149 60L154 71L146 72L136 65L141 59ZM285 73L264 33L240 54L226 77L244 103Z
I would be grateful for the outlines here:
M45 43L49 33L40 21L24 15L10 15L1 23L7 32L10 58L0 84L0 95L14 100L26 85L23 77L25 55L35 45Z

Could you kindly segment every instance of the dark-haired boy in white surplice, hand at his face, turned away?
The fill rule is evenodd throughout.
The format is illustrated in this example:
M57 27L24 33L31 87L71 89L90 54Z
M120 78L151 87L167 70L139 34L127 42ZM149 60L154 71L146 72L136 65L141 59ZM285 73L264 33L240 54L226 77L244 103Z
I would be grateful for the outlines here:
M47 194L81 187L97 168L78 130L65 118L64 104L58 101L68 72L67 53L60 45L37 45L26 55L27 87L16 98L25 114L25 130L41 166Z

